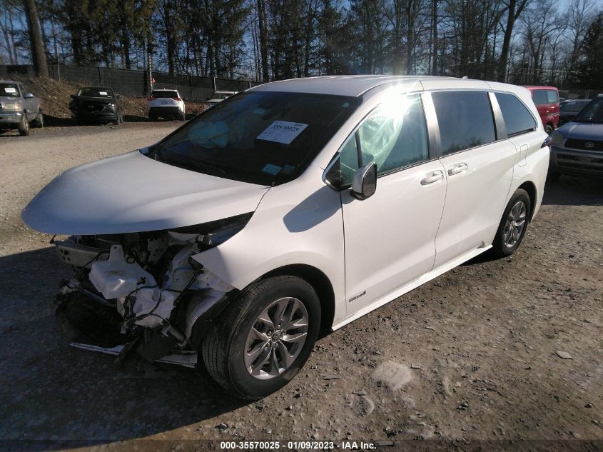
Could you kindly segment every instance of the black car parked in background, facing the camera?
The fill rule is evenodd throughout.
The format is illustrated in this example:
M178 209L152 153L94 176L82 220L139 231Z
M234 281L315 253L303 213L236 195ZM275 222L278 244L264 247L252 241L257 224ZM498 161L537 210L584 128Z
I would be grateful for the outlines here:
M109 86L86 86L71 95L69 110L71 120L81 125L90 122L123 122L121 94L115 94Z

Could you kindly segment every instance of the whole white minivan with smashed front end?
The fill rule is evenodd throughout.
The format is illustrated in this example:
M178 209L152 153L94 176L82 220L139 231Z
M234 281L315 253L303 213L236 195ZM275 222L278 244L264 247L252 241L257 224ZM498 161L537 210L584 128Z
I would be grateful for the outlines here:
M298 373L320 329L513 253L542 201L545 139L518 86L278 81L66 171L22 217L63 236L74 276L57 312L91 336L73 345L186 366L201 353L255 399Z

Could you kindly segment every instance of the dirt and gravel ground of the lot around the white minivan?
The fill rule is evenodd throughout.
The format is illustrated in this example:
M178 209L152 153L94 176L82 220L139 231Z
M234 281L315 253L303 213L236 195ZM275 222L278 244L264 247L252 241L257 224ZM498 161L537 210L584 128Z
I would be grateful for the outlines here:
M481 256L321 338L290 385L262 401L238 401L185 368L135 378L69 347L52 304L69 268L19 213L60 171L178 125L0 135L0 449L348 438L383 450L603 450L600 178L547 185L512 258Z

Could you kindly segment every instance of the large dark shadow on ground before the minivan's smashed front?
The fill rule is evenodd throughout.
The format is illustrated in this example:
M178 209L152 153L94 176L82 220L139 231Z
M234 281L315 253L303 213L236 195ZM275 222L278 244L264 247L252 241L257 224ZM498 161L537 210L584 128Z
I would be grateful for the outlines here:
M0 443L45 451L90 446L245 406L202 371L150 365L133 375L116 367L114 356L70 347L52 302L70 271L56 259L52 247L0 257ZM64 439L69 444L57 441Z

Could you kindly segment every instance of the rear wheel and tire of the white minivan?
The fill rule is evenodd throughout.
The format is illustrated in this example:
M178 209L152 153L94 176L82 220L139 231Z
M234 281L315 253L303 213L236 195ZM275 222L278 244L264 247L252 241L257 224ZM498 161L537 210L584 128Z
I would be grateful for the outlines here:
M521 204L523 206L521 206ZM517 189L502 214L492 249L496 256L507 257L520 247L532 214L532 202L527 191ZM519 227L521 225L521 228Z

